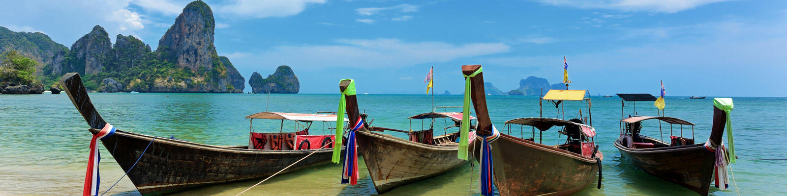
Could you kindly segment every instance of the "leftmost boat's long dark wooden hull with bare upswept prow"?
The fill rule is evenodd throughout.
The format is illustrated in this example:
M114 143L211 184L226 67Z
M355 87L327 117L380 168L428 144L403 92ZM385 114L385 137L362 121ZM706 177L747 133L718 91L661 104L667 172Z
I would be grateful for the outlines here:
M87 96L79 74L65 74L60 82L76 109L90 125L89 131L93 134L99 132L106 122ZM313 115L336 120L335 115ZM249 117L254 118L253 115ZM213 146L121 130L116 130L102 143L143 195L167 194L209 184L268 177L317 151L284 171L292 172L330 162L333 151L331 148L274 151L248 149L248 146Z

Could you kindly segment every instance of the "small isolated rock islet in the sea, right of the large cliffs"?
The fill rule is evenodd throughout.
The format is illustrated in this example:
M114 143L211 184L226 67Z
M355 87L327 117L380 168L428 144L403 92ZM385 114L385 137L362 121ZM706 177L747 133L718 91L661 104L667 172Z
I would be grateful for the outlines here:
M292 68L282 65L276 68L268 78L262 78L260 73L254 71L249 78L252 93L297 93L301 89L301 83L297 81L297 76Z

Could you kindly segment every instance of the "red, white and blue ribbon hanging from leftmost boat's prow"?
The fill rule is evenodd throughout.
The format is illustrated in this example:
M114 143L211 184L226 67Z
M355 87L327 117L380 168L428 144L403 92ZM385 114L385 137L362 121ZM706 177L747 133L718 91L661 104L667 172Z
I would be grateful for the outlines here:
M98 184L101 183L98 176L98 161L101 156L98 155L98 140L115 134L115 127L107 123L104 128L98 133L93 135L91 139L91 155L87 158L87 172L85 172L85 187L83 189L83 196L98 195Z

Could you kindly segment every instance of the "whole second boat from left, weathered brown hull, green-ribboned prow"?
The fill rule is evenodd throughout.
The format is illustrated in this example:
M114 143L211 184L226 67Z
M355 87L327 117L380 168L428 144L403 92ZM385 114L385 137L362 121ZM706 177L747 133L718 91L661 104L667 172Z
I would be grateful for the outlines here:
M349 83L350 80L343 80L339 84L339 89L344 92ZM357 122L358 118L365 118L365 114L362 117L358 112L356 95L345 96L345 100L349 122ZM461 121L461 115L459 116L460 118L455 118L456 114L433 112L419 114L411 119L451 118L456 122ZM368 121L364 119L364 122ZM434 143L427 144L379 133L383 131L412 133L369 125L364 125L356 132L359 155L364 157L369 176L378 194L450 172L467 163L466 160L456 158L459 149L459 143L455 142L459 137L458 132L434 136Z

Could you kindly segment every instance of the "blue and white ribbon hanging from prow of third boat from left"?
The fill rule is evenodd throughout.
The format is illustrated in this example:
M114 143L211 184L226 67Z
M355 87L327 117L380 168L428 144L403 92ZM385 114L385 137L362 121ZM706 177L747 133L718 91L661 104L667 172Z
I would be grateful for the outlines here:
M491 196L494 195L494 168L492 165L492 147L490 146L490 143L494 140L497 140L497 138L500 138L500 132L497 132L497 128L495 128L493 125L492 134L489 136L477 135L476 137L480 137L482 140L480 161L481 181L478 184L478 189L481 191L481 195Z

